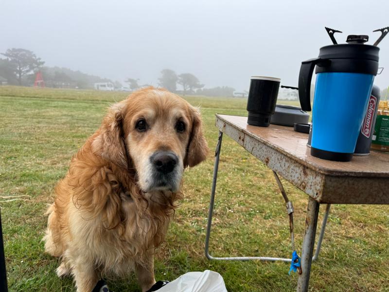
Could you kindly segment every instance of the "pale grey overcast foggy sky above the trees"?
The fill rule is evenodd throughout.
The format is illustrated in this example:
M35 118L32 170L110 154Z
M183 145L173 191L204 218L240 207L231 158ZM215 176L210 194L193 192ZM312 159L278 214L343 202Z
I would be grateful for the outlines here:
M324 26L369 35L389 26L389 0L0 0L0 52L24 48L46 66L158 85L162 69L207 88L247 90L251 75L297 86L301 61L331 44ZM389 85L389 36L375 78Z

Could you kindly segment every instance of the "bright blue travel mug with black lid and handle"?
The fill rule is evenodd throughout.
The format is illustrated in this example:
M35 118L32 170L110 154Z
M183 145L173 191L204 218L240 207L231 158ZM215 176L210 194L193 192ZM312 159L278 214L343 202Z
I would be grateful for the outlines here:
M320 48L318 58L301 63L299 97L302 110L311 110L310 87L316 66L312 111L311 155L350 161L367 110L379 48L363 44L366 36L349 36L349 44Z

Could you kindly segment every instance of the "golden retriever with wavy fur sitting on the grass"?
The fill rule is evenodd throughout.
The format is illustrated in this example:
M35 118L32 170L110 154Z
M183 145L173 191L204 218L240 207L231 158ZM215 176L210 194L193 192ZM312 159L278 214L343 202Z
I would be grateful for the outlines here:
M57 275L91 292L103 275L135 270L150 289L184 168L208 150L199 112L176 94L149 87L114 104L55 187L43 239Z

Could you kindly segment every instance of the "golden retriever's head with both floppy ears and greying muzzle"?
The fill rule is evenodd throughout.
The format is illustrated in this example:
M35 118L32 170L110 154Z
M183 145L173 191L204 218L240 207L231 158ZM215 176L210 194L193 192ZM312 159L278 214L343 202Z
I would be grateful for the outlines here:
M208 153L198 110L176 94L152 87L114 104L92 147L118 167L134 167L144 192L178 191L184 168L199 164Z

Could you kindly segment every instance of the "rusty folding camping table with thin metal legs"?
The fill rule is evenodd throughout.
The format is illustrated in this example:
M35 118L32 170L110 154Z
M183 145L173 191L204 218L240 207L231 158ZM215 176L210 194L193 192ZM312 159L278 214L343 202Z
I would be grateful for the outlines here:
M367 156L354 156L351 162L322 160L310 155L306 146L308 134L291 127L270 125L254 127L247 117L216 114L219 129L215 151L211 202L208 217L205 254L215 260L283 260L286 258L248 256L213 257L209 254L212 211L223 134L228 135L275 173L308 195L305 235L301 251L301 270L298 292L308 291L312 260L318 257L321 240L331 204L389 204L389 154L372 151ZM277 178L277 176L276 176ZM327 204L315 256L313 248L320 204Z

